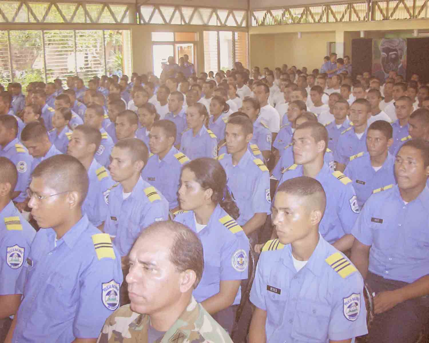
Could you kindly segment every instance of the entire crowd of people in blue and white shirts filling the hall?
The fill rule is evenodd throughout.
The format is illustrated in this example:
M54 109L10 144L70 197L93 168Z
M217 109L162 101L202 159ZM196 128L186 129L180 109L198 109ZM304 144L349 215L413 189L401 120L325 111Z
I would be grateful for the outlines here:
M409 76L170 57L2 86L0 342L232 342L257 254L248 342L415 343L429 86Z

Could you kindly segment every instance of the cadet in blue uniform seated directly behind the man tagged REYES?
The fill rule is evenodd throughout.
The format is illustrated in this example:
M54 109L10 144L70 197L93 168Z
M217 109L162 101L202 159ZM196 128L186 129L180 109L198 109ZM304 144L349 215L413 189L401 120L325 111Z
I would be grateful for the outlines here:
M350 234L359 206L351 180L341 171L332 172L323 161L328 145L328 132L320 123L305 122L296 128L293 134L293 159L295 164L284 169L279 181L299 176L309 176L319 181L327 196L325 215L320 222L322 237L340 251L352 247ZM275 238L273 232L272 238Z

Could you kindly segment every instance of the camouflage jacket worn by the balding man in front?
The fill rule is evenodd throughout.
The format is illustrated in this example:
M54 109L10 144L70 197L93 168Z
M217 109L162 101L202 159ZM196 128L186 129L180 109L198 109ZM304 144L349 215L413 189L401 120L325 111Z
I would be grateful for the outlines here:
M148 343L149 316L124 305L112 313L97 343ZM227 332L192 297L190 304L156 343L233 343Z

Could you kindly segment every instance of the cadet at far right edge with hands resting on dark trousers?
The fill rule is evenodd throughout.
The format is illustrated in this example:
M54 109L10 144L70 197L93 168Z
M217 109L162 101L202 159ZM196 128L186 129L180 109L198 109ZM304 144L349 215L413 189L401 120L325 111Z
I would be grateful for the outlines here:
M353 227L351 260L374 295L369 343L417 341L429 324L429 143L395 160L397 185L375 190Z

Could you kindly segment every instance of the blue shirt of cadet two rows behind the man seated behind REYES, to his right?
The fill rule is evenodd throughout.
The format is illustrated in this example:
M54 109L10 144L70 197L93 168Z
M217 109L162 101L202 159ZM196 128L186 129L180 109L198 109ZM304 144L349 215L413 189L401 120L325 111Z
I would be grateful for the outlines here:
M341 132L334 150L335 161L347 165L350 160L350 156L356 155L356 153L360 153L361 151L368 151L366 150L367 129L365 129L361 138L356 136L353 126L350 126L348 129Z

